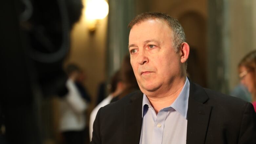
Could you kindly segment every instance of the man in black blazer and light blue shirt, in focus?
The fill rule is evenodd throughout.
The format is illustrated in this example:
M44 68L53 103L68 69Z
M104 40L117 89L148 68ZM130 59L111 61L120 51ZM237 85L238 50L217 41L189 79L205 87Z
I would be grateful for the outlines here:
M256 143L250 103L192 83L179 22L146 12L129 24L131 65L140 91L101 108L93 144Z

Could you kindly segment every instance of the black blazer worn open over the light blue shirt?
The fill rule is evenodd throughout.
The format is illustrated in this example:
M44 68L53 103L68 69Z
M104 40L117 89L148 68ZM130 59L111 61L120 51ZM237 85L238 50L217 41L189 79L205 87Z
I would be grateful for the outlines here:
M139 144L143 93L137 91L101 108L91 144ZM251 103L190 83L187 144L256 144Z

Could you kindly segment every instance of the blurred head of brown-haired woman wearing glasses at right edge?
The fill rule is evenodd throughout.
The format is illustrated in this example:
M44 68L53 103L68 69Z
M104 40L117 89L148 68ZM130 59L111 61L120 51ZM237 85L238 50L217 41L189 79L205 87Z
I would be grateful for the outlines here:
M252 104L256 112L256 50L249 52L238 64L241 83L251 93Z

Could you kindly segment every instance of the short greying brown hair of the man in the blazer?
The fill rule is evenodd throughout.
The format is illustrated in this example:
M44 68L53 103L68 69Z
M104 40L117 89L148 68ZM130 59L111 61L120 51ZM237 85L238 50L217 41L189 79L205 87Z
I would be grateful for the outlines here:
M141 22L144 22L149 19L161 19L168 23L169 27L171 28L173 34L173 48L174 51L177 53L179 48L181 47L181 43L186 41L185 33L179 21L167 14L160 13L160 12L144 12L137 15L128 25L130 29L134 25L139 25Z

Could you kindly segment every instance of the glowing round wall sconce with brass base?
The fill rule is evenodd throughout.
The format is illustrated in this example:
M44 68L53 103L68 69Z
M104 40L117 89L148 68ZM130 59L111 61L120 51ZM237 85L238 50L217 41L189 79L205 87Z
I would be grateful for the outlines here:
M90 31L96 30L98 20L108 15L108 3L105 0L86 0L85 17Z

